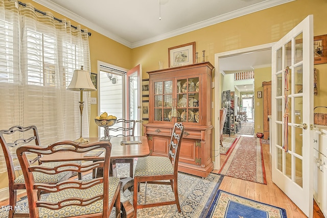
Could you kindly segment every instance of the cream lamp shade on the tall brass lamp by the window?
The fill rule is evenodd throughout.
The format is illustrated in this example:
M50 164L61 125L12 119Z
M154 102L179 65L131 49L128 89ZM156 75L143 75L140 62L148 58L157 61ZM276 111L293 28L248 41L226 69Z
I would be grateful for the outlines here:
M90 73L85 70L75 70L71 84L68 85L67 90L72 91L96 91L94 84L92 83Z

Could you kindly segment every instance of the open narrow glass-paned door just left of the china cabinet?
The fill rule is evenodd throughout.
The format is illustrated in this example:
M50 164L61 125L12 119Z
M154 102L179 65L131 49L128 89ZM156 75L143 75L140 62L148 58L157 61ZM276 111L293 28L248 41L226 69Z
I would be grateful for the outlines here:
M139 64L127 72L127 119L136 120L135 136L140 136L141 129L141 70Z

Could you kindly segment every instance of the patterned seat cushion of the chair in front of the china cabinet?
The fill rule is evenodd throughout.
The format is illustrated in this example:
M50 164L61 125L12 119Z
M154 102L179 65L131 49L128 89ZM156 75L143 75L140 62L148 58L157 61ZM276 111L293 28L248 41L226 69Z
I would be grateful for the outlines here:
M168 174L174 174L174 167L167 157L148 156L137 159L135 177Z

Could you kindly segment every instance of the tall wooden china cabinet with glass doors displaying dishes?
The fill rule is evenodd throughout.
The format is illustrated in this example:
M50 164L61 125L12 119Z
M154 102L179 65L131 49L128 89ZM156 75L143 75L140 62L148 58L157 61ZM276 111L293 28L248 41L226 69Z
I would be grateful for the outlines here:
M175 122L185 126L178 170L206 177L212 162L212 71L209 62L148 72L150 153L168 156Z

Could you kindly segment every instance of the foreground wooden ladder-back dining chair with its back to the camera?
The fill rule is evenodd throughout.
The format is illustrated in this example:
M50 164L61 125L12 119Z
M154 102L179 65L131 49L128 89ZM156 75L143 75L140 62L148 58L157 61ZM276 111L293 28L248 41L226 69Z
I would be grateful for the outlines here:
M52 155L59 151L94 152L103 150L104 160L87 163L63 162L57 166L31 165L27 154ZM120 217L120 179L109 177L110 142L80 145L74 141L60 141L40 147L25 145L17 148L17 157L24 174L31 218L38 217L109 217L115 205L115 216ZM62 172L89 172L103 168L103 177L85 180L65 180L56 184L35 182L35 173L59 175ZM37 193L46 191L38 199Z

